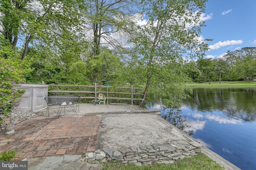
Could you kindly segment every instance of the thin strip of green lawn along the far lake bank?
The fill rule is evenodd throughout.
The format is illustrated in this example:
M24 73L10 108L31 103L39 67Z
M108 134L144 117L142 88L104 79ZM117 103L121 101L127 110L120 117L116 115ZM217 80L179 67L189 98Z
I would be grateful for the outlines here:
M246 82L246 81L230 81L225 83L187 83L188 87L230 87L230 86L254 86L256 87L256 82Z

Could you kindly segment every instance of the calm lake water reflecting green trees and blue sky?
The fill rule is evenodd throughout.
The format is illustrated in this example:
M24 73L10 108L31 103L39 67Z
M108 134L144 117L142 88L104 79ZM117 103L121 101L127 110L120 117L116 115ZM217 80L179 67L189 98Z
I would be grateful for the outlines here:
M162 107L160 100L147 103ZM193 88L179 109L193 138L242 170L256 169L256 88Z

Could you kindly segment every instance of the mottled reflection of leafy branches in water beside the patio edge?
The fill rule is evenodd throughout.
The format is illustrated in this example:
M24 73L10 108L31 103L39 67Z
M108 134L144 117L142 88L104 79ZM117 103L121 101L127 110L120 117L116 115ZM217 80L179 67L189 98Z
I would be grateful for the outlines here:
M180 130L183 130L185 128L190 128L191 126L185 124L186 116L182 115L181 109L174 110L173 108L168 107L162 107L163 113L161 114L161 117L165 119L166 121L170 122L172 125L176 126ZM193 131L184 131L189 135L193 134Z

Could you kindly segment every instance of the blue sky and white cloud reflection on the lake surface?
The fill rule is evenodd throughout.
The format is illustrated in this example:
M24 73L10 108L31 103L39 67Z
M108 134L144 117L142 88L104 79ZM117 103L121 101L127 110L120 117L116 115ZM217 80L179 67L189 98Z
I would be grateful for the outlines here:
M150 109L161 109L160 104ZM228 117L225 110L198 111L183 105L182 115L193 130L192 137L242 170L256 167L256 122ZM163 113L162 113L163 114Z

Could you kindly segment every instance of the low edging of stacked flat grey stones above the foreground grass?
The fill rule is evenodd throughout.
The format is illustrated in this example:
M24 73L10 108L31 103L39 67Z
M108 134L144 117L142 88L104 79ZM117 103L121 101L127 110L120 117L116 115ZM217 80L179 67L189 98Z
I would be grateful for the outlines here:
M128 147L113 150L103 148L95 152L87 152L84 161L97 164L100 162L122 162L123 164L135 163L138 166L152 164L153 162L173 163L185 157L201 153L202 144L198 142L174 140L164 144L151 144L139 147Z

